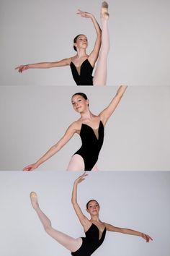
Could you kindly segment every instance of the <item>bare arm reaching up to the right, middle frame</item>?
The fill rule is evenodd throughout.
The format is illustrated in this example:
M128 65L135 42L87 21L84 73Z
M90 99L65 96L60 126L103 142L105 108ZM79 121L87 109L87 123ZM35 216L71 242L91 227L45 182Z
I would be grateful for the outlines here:
M128 87L127 85L121 85L120 88L117 90L117 93L116 93L115 97L109 103L109 106L107 106L107 108L105 108L99 114L100 119L102 120L104 125L107 123L107 120L113 114L117 105L120 103L122 95L125 93L125 90L126 90L127 87Z

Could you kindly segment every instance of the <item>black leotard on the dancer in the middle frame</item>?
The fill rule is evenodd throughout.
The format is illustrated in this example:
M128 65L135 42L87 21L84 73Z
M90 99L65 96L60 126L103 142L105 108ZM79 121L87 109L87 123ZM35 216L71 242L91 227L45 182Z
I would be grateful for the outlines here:
M75 154L81 155L84 159L84 171L91 171L95 163L97 163L99 151L103 145L104 126L102 121L99 122L98 138L94 133L94 129L87 124L81 124L80 137L82 145Z

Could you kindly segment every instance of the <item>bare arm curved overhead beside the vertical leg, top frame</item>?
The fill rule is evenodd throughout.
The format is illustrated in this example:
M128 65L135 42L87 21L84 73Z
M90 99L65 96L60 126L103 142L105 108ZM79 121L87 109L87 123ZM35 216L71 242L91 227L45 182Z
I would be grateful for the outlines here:
M91 54L89 55L89 58L88 58L91 65L94 67L94 64L97 61L97 58L99 56L99 49L102 42L102 30L93 14L89 12L82 12L81 10L78 10L77 14L79 14L81 17L90 18L91 21L93 22L94 29L96 30L96 33L97 33L97 38L94 44L94 48L91 51Z

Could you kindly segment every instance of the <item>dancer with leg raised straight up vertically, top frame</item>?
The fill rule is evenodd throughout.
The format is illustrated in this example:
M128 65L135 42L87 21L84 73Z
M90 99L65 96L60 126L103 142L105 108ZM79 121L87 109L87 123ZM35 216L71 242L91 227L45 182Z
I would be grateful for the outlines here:
M97 39L94 44L94 49L93 51L91 51L91 54L86 54L86 48L88 46L86 35L80 34L77 35L76 38L74 38L73 40L73 48L77 52L76 56L55 62L42 62L36 64L21 65L19 67L16 67L15 69L18 69L18 72L22 73L24 70L32 68L63 67L69 65L71 67L71 72L73 74L73 79L75 80L76 85L106 85L107 55L109 51L109 33L107 27L107 20L109 17L108 4L107 2L102 3L102 31L94 15L88 12L81 12L80 10L77 14L79 14L81 17L90 18L96 30ZM92 72L96 61L97 68L94 72L94 77L92 77Z

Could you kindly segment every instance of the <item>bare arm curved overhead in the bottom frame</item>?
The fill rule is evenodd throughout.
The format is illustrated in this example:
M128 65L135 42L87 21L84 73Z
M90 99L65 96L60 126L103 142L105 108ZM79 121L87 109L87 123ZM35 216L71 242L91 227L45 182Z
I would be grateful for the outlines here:
M82 210L79 207L79 204L77 202L77 187L78 187L79 183L84 181L84 179L87 175L88 174L84 173L83 175L79 176L78 179L75 180L75 182L73 183L73 191L72 191L72 197L71 197L71 202L72 202L73 208L76 212L76 215L79 218L79 221L81 222L81 225L84 226L85 230L89 229L89 226L91 223L88 220L88 218L86 218L86 216L84 216L84 213L82 213Z

